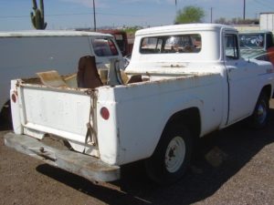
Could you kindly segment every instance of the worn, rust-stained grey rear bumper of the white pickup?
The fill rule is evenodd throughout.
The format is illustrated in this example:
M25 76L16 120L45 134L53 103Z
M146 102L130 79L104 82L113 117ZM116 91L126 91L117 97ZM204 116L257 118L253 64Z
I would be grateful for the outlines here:
M86 179L93 181L120 179L120 167L118 166L111 166L100 159L71 150L49 147L36 138L26 135L5 134L5 146Z

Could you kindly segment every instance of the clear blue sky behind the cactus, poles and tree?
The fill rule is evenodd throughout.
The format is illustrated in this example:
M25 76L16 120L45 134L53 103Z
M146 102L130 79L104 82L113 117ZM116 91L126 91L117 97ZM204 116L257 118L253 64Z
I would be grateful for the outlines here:
M243 17L244 0L95 0L96 25L164 26L174 24L176 12L187 5L205 11L203 22ZM94 26L93 0L44 0L47 29ZM39 6L39 0L37 0ZM0 31L31 30L32 0L0 0ZM274 12L274 0L246 0L246 18Z

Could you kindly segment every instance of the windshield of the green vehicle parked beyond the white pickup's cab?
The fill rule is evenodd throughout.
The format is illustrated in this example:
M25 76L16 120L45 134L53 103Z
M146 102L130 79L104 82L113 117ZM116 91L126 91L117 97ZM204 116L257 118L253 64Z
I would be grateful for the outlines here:
M239 39L243 49L264 49L263 34L240 34Z

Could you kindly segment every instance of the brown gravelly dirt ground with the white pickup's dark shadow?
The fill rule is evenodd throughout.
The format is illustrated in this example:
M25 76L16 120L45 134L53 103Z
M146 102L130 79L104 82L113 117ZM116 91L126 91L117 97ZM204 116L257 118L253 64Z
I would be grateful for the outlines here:
M184 179L161 187L142 161L122 178L93 184L4 146L0 132L0 204L274 204L274 101L268 128L242 123L202 139Z

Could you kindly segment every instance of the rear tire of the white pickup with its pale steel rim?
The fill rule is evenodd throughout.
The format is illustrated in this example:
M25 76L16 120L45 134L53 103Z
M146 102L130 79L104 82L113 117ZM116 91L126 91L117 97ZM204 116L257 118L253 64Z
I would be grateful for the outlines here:
M173 126L164 130L153 156L145 160L149 178L158 184L171 184L182 178L192 156L192 147L187 128Z

